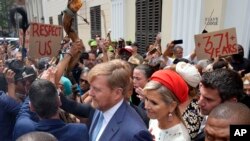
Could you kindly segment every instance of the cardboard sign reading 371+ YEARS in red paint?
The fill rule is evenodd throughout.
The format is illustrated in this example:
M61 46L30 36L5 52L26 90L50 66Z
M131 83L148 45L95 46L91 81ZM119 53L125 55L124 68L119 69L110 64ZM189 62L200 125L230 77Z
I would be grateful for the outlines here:
M195 35L197 59L209 59L238 53L236 29Z

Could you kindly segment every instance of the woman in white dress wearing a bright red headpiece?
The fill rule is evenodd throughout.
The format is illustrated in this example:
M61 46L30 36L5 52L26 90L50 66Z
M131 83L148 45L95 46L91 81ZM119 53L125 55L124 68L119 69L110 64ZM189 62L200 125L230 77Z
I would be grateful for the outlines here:
M155 141L190 141L178 105L188 98L188 86L172 70L155 72L144 87L149 130Z

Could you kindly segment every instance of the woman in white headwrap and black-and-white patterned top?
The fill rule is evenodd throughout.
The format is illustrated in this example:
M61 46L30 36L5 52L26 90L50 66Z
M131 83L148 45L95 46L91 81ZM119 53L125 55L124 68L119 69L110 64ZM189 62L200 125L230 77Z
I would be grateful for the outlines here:
M177 63L175 71L184 79L189 88L188 99L186 102L180 104L179 108L189 135L191 139L194 139L198 134L203 120L198 107L197 89L201 81L201 75L194 65L185 62Z

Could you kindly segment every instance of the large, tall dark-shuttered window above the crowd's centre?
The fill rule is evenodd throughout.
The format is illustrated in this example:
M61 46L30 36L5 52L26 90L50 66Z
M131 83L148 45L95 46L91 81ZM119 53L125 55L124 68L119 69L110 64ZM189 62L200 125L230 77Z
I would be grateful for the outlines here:
M162 0L136 0L136 41L138 52L143 54L146 47L154 43L161 31Z

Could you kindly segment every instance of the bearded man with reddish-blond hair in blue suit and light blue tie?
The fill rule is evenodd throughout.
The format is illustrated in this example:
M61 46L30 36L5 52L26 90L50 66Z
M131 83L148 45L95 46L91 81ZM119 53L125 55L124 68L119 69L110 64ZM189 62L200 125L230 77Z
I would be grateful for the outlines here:
M101 63L88 74L92 107L61 97L64 110L90 119L90 141L152 141L143 120L125 100L130 78L128 63L122 60Z

